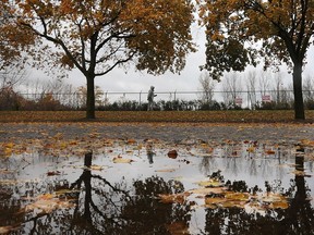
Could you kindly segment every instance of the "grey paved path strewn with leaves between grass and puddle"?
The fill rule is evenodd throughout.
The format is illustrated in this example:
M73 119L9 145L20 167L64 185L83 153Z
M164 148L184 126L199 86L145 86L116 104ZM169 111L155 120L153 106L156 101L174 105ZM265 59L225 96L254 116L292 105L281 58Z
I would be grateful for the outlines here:
M165 141L186 139L258 140L298 143L314 140L313 124L247 123L0 123L0 141L36 139L61 135L63 138L157 138Z

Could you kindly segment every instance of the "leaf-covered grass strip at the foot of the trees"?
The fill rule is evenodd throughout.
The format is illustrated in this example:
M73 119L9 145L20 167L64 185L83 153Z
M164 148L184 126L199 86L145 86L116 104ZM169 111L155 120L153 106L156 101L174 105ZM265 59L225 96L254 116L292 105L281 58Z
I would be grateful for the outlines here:
M312 123L314 111L306 111ZM95 120L86 120L84 111L0 111L0 123L12 122L294 122L293 110L228 111L97 111Z

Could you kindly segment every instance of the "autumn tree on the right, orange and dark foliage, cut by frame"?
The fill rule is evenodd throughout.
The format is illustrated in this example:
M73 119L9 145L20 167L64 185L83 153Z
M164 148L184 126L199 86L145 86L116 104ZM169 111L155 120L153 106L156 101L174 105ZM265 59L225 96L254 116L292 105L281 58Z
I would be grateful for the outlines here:
M204 69L219 78L225 71L265 69L286 63L293 73L295 119L304 120L302 69L313 42L313 0L198 0L206 25L207 61ZM259 42L259 44L256 44Z

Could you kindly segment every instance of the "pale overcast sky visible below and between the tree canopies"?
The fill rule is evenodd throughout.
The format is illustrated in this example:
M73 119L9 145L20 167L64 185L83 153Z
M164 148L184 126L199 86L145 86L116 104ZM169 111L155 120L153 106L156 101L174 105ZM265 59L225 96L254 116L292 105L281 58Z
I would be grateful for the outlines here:
M135 72L132 65L128 71L123 69L116 67L113 71L109 72L102 77L96 77L95 84L100 86L104 91L134 91L146 92L149 87L155 86L155 91L195 91L200 90L200 65L205 63L205 34L204 29L197 25L192 27L192 34L194 36L194 42L197 45L197 52L191 53L188 57L185 69L181 74L172 74L167 72L164 75L153 76L146 74L145 72ZM257 72L261 72L261 69L256 69ZM313 47L307 54L307 65L303 73L303 76L306 75L313 76L314 72L314 50ZM32 77L36 76L34 73ZM285 77L286 84L292 83L291 74L286 72L281 73L281 76ZM73 86L86 86L86 81L83 74L77 70L73 71L70 74L70 77L65 79L67 84L72 84ZM217 89L219 90L219 86Z

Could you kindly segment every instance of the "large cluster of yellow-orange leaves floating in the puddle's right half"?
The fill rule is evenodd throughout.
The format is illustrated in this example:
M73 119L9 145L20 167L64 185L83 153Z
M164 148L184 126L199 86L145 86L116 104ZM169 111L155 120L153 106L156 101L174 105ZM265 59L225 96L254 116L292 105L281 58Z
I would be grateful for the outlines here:
M184 203L210 209L241 208L247 213L265 213L269 209L287 209L289 207L289 198L279 193L231 190L221 178L217 177L209 177L207 181L196 184L198 184L200 188L179 194L159 194L158 198L162 203ZM203 199L203 203L197 205L197 199Z

